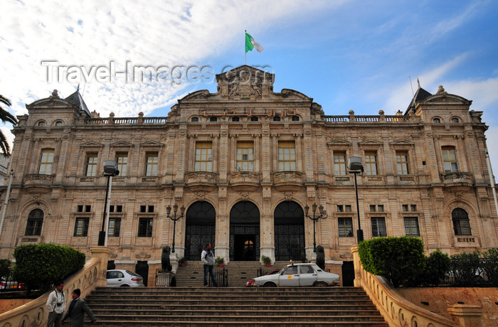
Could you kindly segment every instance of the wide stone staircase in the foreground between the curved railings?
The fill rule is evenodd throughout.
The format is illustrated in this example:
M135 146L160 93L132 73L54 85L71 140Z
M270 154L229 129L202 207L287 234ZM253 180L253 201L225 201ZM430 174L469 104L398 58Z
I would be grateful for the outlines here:
M388 327L354 287L105 287L85 301L97 326Z

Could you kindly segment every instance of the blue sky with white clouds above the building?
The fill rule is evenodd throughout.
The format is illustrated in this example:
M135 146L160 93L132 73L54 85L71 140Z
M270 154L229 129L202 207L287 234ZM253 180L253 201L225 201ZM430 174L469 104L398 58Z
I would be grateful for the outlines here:
M0 94L16 115L79 84L101 117L165 117L189 92L216 92L215 75L245 60L275 74L275 92L300 91L325 114L396 114L418 78L484 112L498 172L498 1L1 0L1 9ZM245 58L245 30L262 53Z

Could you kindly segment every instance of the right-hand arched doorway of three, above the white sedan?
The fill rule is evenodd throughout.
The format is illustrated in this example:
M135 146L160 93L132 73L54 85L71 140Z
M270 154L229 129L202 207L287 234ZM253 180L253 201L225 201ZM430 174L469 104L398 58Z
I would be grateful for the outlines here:
M304 257L304 212L294 201L277 205L274 214L275 260L297 260Z

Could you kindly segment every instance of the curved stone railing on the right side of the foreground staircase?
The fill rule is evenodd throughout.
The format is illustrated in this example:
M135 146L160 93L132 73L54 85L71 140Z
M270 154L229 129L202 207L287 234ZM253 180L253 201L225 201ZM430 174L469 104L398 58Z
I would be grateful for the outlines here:
M461 323L459 325L455 321L420 308L420 306L415 306L415 304L397 294L393 287L388 285L383 278L370 274L361 267L358 245L351 247L351 252L353 252L354 260L354 286L362 287L366 291L366 294L369 295L389 326L472 326L462 325ZM453 314L450 308L448 311ZM455 311L459 316L457 318L462 318L462 310Z

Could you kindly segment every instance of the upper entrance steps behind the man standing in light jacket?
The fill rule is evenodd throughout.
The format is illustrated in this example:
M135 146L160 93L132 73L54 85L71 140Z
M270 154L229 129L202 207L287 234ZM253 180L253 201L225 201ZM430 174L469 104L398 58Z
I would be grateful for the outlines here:
M228 272L228 286L245 286L248 280L258 277L258 269L270 272L273 269L281 269L288 262L275 262L271 267L265 267L257 261L250 262L230 262L224 268ZM223 271L223 268L214 267L215 274ZM185 267L179 267L176 271L176 286L201 287L203 286L204 272L200 261L189 261ZM219 279L219 278L218 278Z

